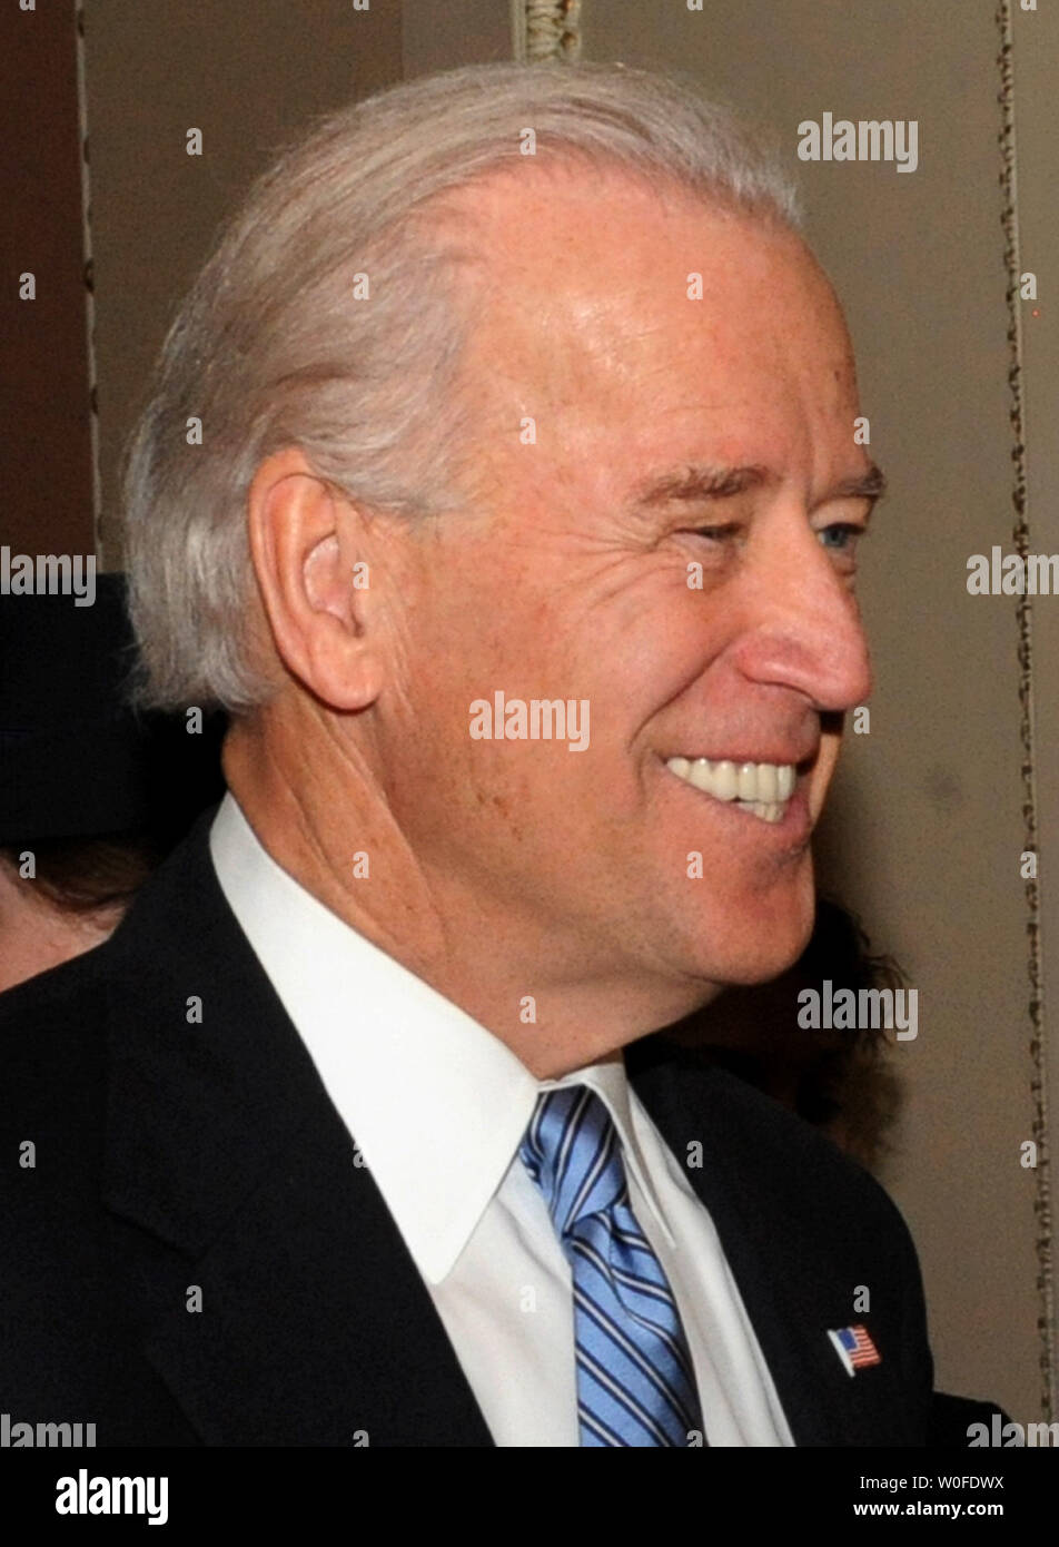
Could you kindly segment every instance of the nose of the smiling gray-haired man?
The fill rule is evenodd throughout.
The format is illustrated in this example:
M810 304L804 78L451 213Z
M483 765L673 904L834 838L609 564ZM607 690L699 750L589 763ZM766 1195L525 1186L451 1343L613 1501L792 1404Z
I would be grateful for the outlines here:
M821 713L846 713L872 692L860 608L838 565L799 511L776 517L742 574L750 627L736 665L754 682L804 695Z

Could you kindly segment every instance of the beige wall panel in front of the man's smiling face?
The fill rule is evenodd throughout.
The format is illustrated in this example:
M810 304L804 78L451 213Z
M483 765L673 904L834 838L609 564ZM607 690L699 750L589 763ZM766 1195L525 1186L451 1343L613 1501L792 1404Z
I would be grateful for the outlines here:
M994 8L587 0L583 17L586 57L683 68L775 131L847 308L892 495L864 566L870 735L850 738L821 876L920 995L883 1179L923 1259L938 1383L1036 1420L1016 622L1010 599L966 594L968 555L1011 531ZM798 124L824 111L918 121L918 169L798 161Z

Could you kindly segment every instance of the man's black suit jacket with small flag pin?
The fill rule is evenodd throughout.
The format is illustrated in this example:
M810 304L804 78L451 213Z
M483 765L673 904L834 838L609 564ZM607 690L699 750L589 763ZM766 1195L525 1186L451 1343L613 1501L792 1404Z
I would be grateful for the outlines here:
M97 1445L490 1445L207 834L110 942L0 996L0 1411L96 1423ZM628 1064L673 1153L702 1145L686 1174L795 1442L924 1443L920 1275L881 1188L657 1036ZM827 1330L856 1323L881 1363L850 1378Z

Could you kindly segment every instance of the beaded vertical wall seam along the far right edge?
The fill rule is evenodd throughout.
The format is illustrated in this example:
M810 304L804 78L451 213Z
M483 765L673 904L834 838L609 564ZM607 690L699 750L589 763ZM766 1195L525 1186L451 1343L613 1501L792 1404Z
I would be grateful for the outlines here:
M1000 31L1000 189L1003 229L1003 265L1006 274L1008 308L1008 387L1011 396L1011 461L1014 478L1011 504L1014 526L1011 532L1017 554L1025 560L1030 552L1030 501L1027 492L1027 404L1023 384L1022 339L1022 252L1019 241L1019 142L1016 133L1014 96L1014 39L1011 29L1011 0L999 0L997 26ZM1037 780L1036 780L1036 724L1033 695L1033 603L1028 596L1016 600L1017 661L1019 661L1019 741L1022 749L1022 820L1023 849L1037 854ZM1047 1044L1044 1013L1044 975L1040 967L1040 882L1037 877L1025 883L1027 899L1027 973L1030 979L1030 1094L1033 1106L1033 1140L1037 1146L1034 1173L1034 1216L1037 1253L1037 1332L1040 1337L1040 1408L1047 1419L1056 1417L1056 1349L1054 1349L1054 1286L1051 1253L1051 1187L1048 1157L1048 1088Z

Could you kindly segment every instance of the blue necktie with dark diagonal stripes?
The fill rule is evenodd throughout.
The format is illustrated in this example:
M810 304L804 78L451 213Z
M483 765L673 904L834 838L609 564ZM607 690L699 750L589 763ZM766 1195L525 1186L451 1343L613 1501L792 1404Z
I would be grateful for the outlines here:
M584 1084L546 1092L519 1156L574 1275L581 1445L686 1445L702 1429L691 1355L604 1103Z

